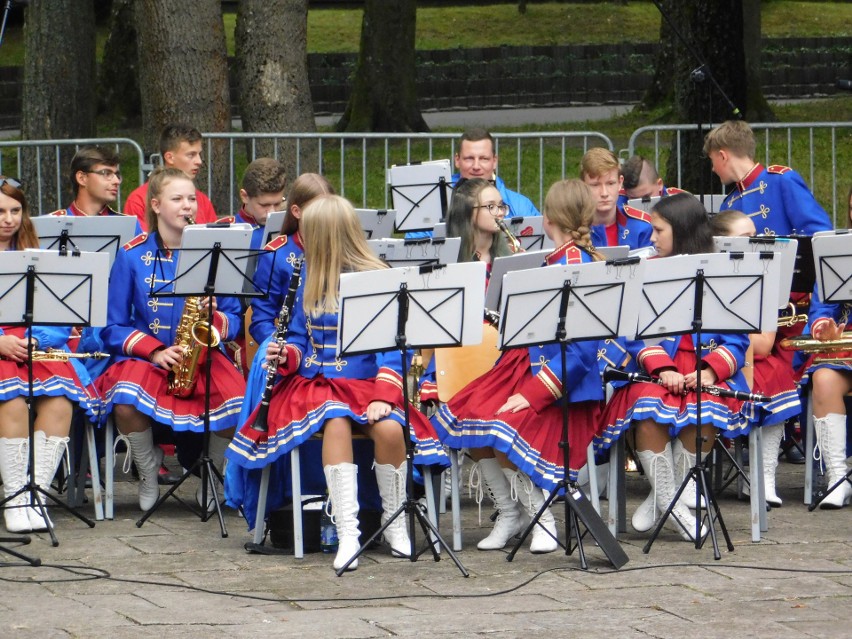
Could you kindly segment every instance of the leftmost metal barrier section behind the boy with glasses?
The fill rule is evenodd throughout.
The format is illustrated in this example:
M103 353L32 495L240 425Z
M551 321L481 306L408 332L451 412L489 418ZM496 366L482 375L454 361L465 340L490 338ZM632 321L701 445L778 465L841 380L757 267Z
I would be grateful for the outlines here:
M145 164L142 147L130 138L2 141L0 174L24 178L24 173L27 173L23 188L33 215L60 209L69 203L68 166L71 156L88 144L112 145L121 159L125 178L131 171L134 173L133 179L125 179L119 184L118 202L123 202L132 188L142 182L144 172L150 170Z

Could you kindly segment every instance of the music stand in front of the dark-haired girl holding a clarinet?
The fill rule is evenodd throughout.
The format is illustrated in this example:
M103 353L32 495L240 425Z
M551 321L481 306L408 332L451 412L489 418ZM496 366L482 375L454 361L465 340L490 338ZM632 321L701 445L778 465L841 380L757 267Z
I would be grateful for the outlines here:
M702 331L758 333L775 330L781 271L781 260L775 258L775 253L737 252L679 255L648 261L636 338L695 334L695 370L700 380L703 366ZM755 303L755 298L758 303ZM701 535L703 495L707 504L714 559L722 557L716 538L716 522L719 523L728 550L734 550L719 504L710 488L708 469L702 459L701 395L696 390L695 465L685 474L674 499L657 522L651 538L642 549L644 553L650 552L663 525L672 515L675 504L692 481L696 485L695 530L692 531L695 548L700 549L706 540ZM672 518L686 530L683 522L675 516Z

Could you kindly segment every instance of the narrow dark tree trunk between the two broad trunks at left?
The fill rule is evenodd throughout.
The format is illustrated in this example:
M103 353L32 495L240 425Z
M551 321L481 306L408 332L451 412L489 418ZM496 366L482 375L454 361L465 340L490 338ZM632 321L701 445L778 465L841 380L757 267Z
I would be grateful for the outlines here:
M142 115L134 3L135 0L113 0L109 35L98 70L98 112L115 118L124 127L138 127Z

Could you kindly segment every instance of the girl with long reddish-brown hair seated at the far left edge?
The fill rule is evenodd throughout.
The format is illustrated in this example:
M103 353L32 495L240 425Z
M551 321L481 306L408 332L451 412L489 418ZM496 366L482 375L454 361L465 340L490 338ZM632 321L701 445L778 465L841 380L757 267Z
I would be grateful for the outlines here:
M38 248L27 199L21 185L0 176L0 251ZM39 350L67 350L71 327L33 326L30 340ZM0 326L0 476L6 497L27 483L29 411L27 396L27 335L23 326ZM87 392L68 361L34 361L36 485L47 490L65 453L74 404L97 419L98 402ZM49 520L30 506L26 492L4 505L6 530L12 533L46 530Z

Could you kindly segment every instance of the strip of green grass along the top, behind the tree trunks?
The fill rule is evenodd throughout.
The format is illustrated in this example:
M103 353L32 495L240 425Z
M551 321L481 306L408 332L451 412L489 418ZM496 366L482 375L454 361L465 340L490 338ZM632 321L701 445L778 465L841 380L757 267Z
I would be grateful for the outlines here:
M308 51L354 52L361 34L360 9L313 9L308 13ZM852 3L761 3L765 37L826 37L852 35ZM236 15L225 14L228 51L234 53ZM650 2L626 6L596 4L530 4L519 14L514 4L424 7L417 11L418 49L455 49L500 45L599 44L655 42L660 15ZM98 31L98 57L106 27ZM24 59L20 26L9 28L0 47L0 66L20 65Z

